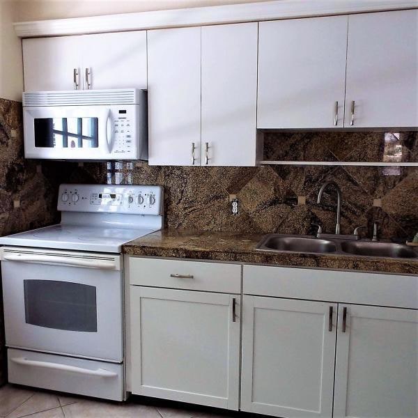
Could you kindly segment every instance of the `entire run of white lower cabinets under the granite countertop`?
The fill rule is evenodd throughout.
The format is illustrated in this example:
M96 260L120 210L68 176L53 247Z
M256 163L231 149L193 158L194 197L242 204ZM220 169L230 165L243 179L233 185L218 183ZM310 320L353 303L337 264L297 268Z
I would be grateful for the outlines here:
M133 394L282 418L418 417L417 276L126 258Z

